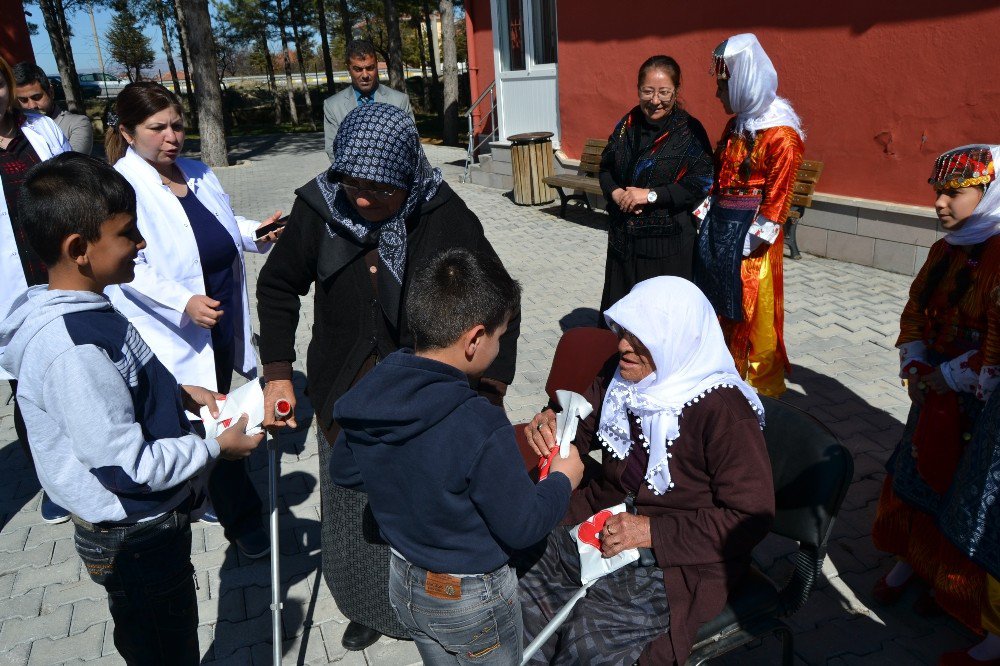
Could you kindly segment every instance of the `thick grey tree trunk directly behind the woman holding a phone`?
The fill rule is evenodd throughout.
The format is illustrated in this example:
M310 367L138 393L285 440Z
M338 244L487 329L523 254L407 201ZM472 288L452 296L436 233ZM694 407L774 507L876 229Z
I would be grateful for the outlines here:
M198 89L198 132L201 134L201 161L211 167L229 165L226 153L226 130L222 121L222 90L219 88L219 64L212 39L212 19L208 0L179 0L184 15L190 19L188 50L191 75Z

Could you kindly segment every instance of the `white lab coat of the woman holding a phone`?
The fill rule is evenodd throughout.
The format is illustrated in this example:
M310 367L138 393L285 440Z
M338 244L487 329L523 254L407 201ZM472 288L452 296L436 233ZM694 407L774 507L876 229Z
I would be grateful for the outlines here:
M233 298L240 307L226 311L235 317L235 370L245 377L257 371L250 332L250 299L247 296L243 252L267 252L270 244L258 244L254 230L258 222L237 217L212 170L197 160L177 159L188 189L226 227L237 249L233 262ZM184 207L163 184L159 172L131 148L115 169L135 188L139 231L146 248L136 259L135 279L108 287L112 304L138 329L143 340L181 384L215 390L215 356L212 332L195 324L184 307L192 296L205 295L205 279L194 230Z

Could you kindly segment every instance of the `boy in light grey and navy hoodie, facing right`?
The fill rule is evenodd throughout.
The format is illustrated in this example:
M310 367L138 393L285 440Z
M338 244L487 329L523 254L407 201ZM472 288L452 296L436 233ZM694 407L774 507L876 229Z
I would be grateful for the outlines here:
M38 479L72 513L125 661L197 664L188 480L219 455L250 455L263 435L244 434L246 415L216 439L195 435L184 410L217 414L215 394L178 386L104 297L132 280L145 247L128 181L64 153L28 172L19 211L49 284L21 295L0 324L0 363L18 379Z

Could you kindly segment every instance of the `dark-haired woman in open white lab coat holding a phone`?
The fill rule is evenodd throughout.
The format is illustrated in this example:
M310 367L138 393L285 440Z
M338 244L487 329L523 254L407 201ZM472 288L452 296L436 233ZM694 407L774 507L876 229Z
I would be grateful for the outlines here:
M257 371L243 253L270 248L280 229L260 240L255 232L280 213L262 223L233 214L212 170L180 157L182 114L177 97L157 83L131 83L118 95L105 151L135 188L146 248L135 279L108 295L178 382L226 393L234 370ZM209 495L226 537L263 557L260 498L245 463L220 460Z

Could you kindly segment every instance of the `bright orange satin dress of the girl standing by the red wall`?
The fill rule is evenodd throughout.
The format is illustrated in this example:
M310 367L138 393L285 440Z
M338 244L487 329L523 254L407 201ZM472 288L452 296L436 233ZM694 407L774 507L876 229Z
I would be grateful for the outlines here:
M783 225L792 205L795 175L802 163L802 138L791 127L757 132L750 155L750 177L740 175L748 141L732 131L729 121L715 151L714 194L757 194L758 219ZM726 344L736 369L758 392L777 397L785 392L790 369L784 338L784 232L770 246L762 246L741 264L743 321L721 319Z

